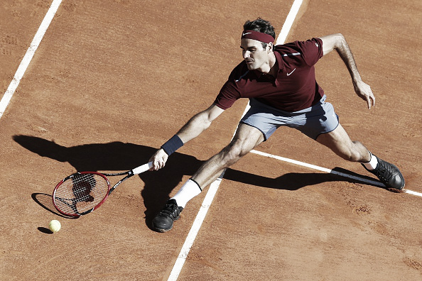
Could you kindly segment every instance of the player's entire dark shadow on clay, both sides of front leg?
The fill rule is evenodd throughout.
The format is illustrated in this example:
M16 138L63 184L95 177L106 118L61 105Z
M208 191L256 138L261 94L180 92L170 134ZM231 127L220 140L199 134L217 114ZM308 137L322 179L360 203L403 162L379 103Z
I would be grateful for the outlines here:
M13 140L23 148L30 150L42 157L69 162L76 171L125 171L148 162L156 148L134 143L91 143L65 147L51 140L45 140L35 136L13 136ZM151 228L153 216L161 210L169 199L171 191L180 183L183 176L193 175L202 165L202 161L191 155L173 153L166 167L153 172L144 172L139 175L145 183L141 196L146 207L146 225ZM345 171L345 170L343 170ZM352 174L352 172L347 171ZM58 175L63 177L63 175ZM363 177L360 176L359 177ZM323 173L288 173L276 178L254 175L239 170L227 169L224 174L227 180L252 184L258 187L274 189L296 190L322 182L346 181L362 182L336 175ZM367 184L367 182L362 182ZM51 198L45 198L47 194L32 194L32 198L43 208L51 210L52 204L43 204ZM42 199L42 200L41 200ZM54 209L54 208L53 208ZM55 211L53 211L55 212Z

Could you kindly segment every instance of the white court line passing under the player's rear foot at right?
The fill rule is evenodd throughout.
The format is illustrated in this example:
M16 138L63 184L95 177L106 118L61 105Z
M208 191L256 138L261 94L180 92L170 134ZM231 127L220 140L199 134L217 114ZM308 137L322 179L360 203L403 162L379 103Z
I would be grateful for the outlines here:
M301 162L301 161L298 161L298 160L284 158L284 157L272 155L272 154L269 154L269 153L263 153L263 152L258 151L258 150L251 150L251 153L255 153L257 155L265 156L265 157L268 157L268 158L274 158L274 159L281 160L281 161L284 161L284 162L289 162L289 163L300 165L300 166L303 166L303 167L308 167L308 168L313 169L313 170L328 172L329 174L340 175L342 177L348 177L348 178L353 179L353 180L359 180L360 182L367 182L368 184L372 184L372 185L375 185L375 186L378 186L378 187L386 187L382 182L378 182L378 181L375 181L375 180L367 180L367 179L364 179L363 177L357 177L355 175L346 174L344 172L337 172L337 171L334 171L334 170L327 169L325 167L319 167L319 166L308 164L308 163ZM404 189L403 192L422 197L422 193L420 193L420 192L414 192L414 191L411 191L411 190L408 190L408 189Z

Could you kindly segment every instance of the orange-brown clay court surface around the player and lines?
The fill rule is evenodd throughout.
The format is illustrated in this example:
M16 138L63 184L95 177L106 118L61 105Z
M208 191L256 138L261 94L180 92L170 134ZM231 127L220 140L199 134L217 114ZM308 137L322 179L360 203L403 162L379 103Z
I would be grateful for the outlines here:
M0 98L51 1L0 4ZM232 138L237 101L158 172L124 182L92 214L60 216L51 192L76 171L124 171L212 104L258 16L281 31L289 1L63 0L0 119L1 280L168 280L208 189L172 231L151 219ZM367 110L340 57L317 80L353 140L422 192L420 0L304 1L286 41L342 33L377 99ZM422 197L389 192L361 165L280 129L227 170L178 280L422 280ZM112 179L113 181L114 179ZM51 219L62 229L48 233Z

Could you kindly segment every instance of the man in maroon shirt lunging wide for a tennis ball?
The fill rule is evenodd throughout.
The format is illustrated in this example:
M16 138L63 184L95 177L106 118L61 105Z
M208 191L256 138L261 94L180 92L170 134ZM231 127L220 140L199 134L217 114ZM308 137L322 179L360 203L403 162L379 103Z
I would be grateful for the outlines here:
M204 162L167 202L153 219L156 231L169 231L190 199L214 182L225 168L267 140L279 126L296 128L341 158L361 162L386 187L404 188L404 177L395 165L377 158L359 141L350 140L315 81L315 63L336 50L350 72L357 96L367 101L368 109L375 105L374 94L362 82L345 38L337 33L274 46L275 37L268 21L247 21L240 44L244 60L229 75L214 103L193 116L151 157L152 169L161 169L171 153L199 136L234 101L249 98L251 108L239 122L233 140Z

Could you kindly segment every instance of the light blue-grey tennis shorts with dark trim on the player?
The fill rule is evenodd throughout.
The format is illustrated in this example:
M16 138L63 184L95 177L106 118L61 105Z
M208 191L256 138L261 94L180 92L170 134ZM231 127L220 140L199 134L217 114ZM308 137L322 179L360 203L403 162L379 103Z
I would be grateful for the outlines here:
M316 140L321 133L333 131L339 124L334 107L329 102L325 102L326 98L324 95L318 104L295 112L275 109L256 99L250 99L251 108L240 122L259 129L264 134L265 140L280 126L296 128Z

